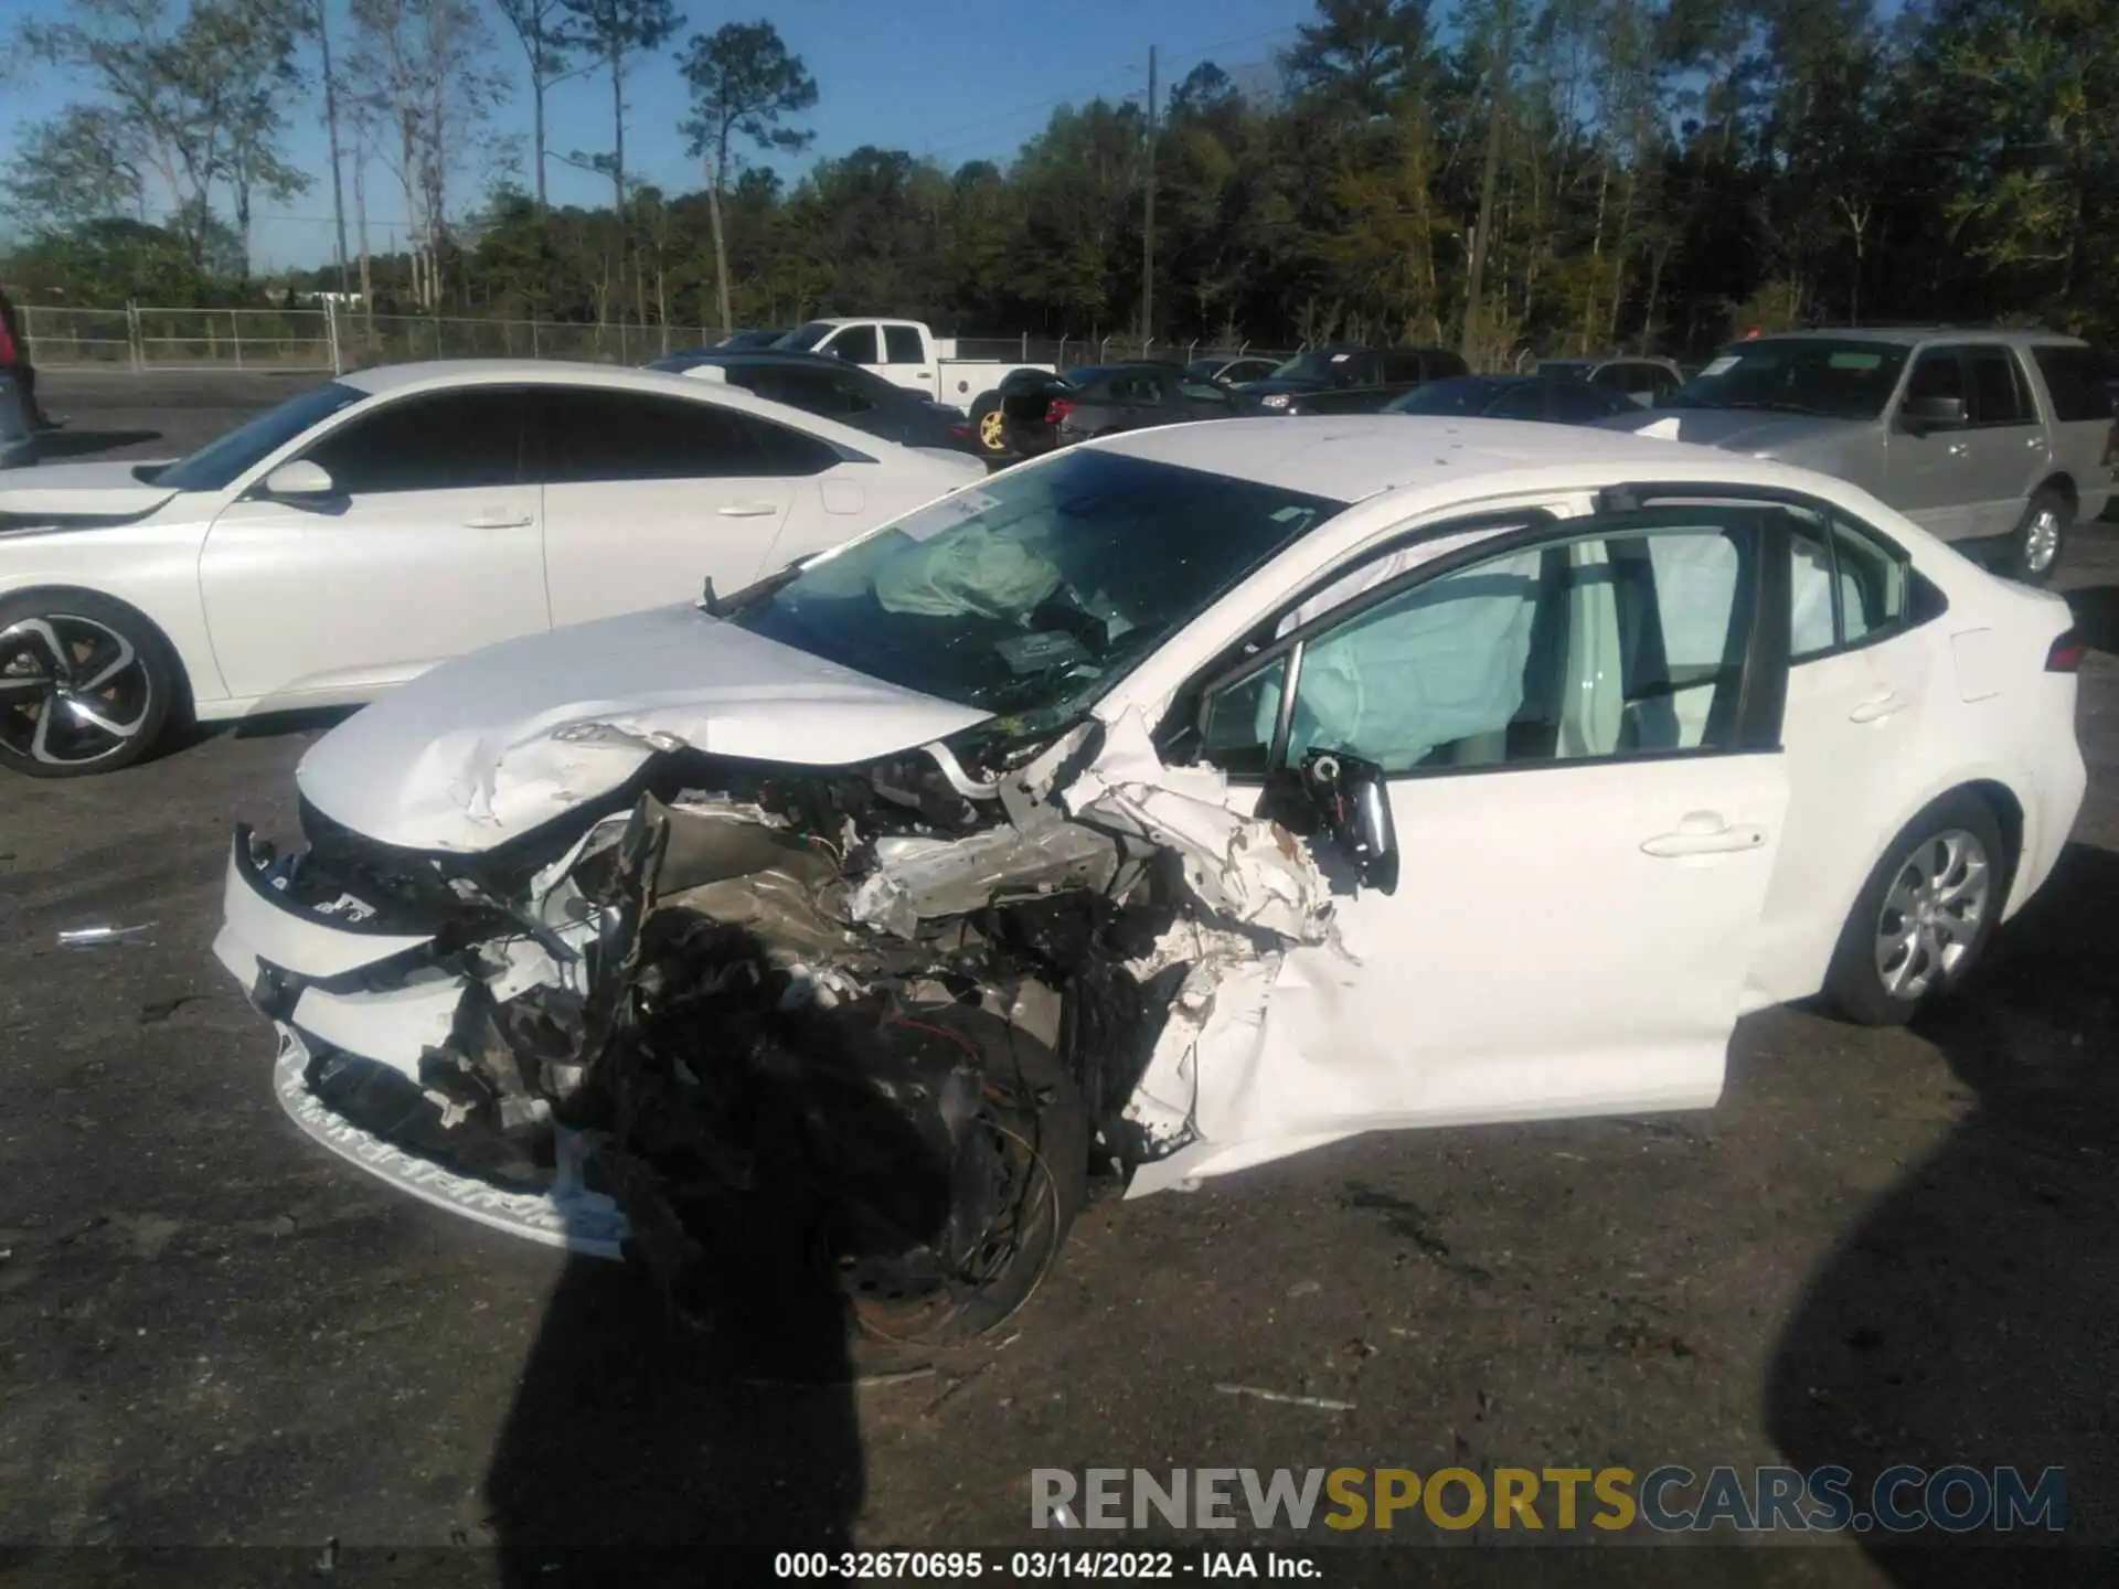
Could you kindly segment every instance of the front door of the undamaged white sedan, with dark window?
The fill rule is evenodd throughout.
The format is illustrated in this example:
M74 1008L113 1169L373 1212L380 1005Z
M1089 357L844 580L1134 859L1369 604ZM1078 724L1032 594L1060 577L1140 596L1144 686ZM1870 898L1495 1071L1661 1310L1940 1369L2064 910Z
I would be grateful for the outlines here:
M545 629L526 394L464 386L360 409L303 458L333 496L254 485L214 519L199 593L237 699L362 699L434 663Z

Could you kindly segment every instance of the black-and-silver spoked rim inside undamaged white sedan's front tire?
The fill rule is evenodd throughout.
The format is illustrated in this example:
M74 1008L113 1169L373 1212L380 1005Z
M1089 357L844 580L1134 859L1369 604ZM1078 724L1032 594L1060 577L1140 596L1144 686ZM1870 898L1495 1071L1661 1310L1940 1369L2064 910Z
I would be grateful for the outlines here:
M123 633L51 612L0 629L0 748L47 767L91 767L146 729L155 682Z

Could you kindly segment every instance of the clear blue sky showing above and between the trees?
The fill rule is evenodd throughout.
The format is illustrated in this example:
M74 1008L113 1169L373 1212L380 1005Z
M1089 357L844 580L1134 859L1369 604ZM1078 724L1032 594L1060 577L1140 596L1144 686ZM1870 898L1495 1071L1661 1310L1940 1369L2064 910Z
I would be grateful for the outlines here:
M182 4L170 2L172 8ZM350 32L343 0L328 4L335 47L343 51ZM816 144L809 155L782 161L790 174L816 155L843 155L860 144L909 148L945 165L1004 161L1060 102L1142 93L1151 44L1159 51L1168 93L1168 85L1206 55L1225 68L1265 61L1314 15L1310 0L737 0L733 6L691 8L678 0L678 6L687 11L678 44L693 32L752 21L763 13L809 66L820 100L805 125L816 131ZM57 19L64 11L66 0L0 0L0 36L13 34L25 19ZM519 76L521 51L498 17L494 34L494 59ZM11 163L21 125L53 114L76 93L74 85L47 74L0 81L0 174ZM672 191L697 186L699 172L676 131L687 110L676 49L634 68L627 106L627 165ZM591 74L559 85L547 117L551 148L610 148L608 78ZM263 206L269 218L259 222L254 246L265 269L331 258L331 157L322 97L299 106L290 123L288 155L316 176L316 184L292 203ZM521 133L528 146L528 93L517 91L500 129ZM549 182L557 203L595 203L610 191L604 178L557 161L549 167ZM369 231L375 248L388 246L390 222L403 222L403 214L405 197L396 180L373 167Z

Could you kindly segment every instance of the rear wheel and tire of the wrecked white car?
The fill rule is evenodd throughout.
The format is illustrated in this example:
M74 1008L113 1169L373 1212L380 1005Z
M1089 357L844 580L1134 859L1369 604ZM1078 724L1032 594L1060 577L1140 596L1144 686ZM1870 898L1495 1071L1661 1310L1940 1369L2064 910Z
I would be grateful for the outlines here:
M1824 977L1824 996L1856 1025L1905 1025L1947 998L1986 953L2009 898L2015 858L1994 807L1954 790L1886 845Z

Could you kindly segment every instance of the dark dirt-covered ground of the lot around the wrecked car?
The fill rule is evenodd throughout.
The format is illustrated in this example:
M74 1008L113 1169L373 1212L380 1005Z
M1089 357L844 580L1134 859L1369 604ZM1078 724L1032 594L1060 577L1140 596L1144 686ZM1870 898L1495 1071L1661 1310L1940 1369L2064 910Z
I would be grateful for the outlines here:
M74 456L182 451L275 390L47 381ZM2079 532L2062 585L2098 646L2089 801L1949 1013L1750 1019L1710 1114L1373 1138L1102 1201L1000 1341L831 1347L835 1383L746 1375L631 1271L439 1214L280 1114L208 945L229 826L290 831L324 725L11 782L0 1542L280 1545L297 1570L333 1538L949 1549L1021 1538L1032 1466L1969 1462L2064 1466L2072 1538L2119 1551L2119 525ZM91 924L153 932L57 947ZM1704 1561L1757 1583L1797 1553ZM2022 1578L2062 1568L2100 1570Z

